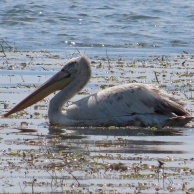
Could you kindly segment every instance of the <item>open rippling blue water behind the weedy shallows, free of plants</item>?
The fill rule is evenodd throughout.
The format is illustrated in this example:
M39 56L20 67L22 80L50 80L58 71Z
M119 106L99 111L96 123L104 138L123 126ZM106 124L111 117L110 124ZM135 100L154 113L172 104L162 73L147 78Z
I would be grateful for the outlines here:
M190 0L2 1L0 38L21 50L138 58L193 53Z

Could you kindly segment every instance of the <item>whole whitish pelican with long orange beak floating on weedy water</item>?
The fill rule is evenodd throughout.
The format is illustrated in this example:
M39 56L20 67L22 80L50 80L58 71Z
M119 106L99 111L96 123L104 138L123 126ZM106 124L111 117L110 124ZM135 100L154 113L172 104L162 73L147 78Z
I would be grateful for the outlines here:
M51 124L63 126L184 126L194 117L184 103L154 85L128 83L110 87L68 106L64 104L90 80L86 56L69 60L65 66L4 116L27 108L60 90L50 101Z

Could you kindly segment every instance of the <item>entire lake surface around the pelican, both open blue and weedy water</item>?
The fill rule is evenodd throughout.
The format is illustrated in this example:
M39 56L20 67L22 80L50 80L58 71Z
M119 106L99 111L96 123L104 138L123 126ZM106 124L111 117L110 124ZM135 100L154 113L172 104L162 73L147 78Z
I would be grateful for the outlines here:
M71 101L112 85L151 83L194 115L193 8L175 0L2 1L0 114L81 52L92 61L92 78ZM54 127L52 96L0 117L0 193L194 192L194 122Z

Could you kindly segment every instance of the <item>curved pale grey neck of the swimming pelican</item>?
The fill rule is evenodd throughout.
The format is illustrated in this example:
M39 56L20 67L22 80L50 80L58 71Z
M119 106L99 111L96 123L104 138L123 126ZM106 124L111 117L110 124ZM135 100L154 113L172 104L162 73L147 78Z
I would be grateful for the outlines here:
M54 124L60 124L64 120L62 113L63 105L79 92L89 81L91 72L84 72L84 75L75 77L65 88L57 93L50 101L48 117Z

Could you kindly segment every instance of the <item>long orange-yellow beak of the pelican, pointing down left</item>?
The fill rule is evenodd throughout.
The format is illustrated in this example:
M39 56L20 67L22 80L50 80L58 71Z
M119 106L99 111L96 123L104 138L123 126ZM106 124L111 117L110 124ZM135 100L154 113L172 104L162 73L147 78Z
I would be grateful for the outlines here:
M42 100L43 98L57 90L62 90L72 80L73 78L71 77L71 74L63 68L60 72L51 77L47 82L36 89L32 94L27 96L9 112L4 114L4 117L7 117L15 112L18 112L27 108L28 106L35 104L36 102Z

